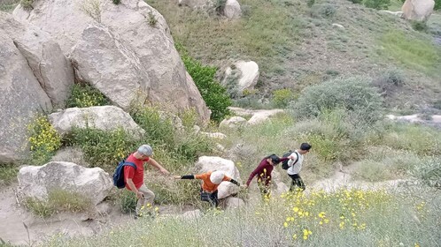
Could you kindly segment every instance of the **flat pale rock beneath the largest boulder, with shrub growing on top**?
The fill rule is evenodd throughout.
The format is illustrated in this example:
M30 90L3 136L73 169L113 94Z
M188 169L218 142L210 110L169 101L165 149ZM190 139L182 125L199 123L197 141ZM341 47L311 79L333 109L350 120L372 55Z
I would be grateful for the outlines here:
M69 133L73 127L90 127L103 131L122 128L135 138L145 133L127 112L114 106L65 109L50 114L49 121L60 135Z

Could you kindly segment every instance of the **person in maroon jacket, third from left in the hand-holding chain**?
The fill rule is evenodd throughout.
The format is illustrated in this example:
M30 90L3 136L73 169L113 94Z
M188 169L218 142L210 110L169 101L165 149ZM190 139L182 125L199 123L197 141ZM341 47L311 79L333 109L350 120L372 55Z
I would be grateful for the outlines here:
M250 186L251 180L254 178L254 176L257 176L260 193L262 193L262 196L264 197L269 196L270 194L269 188L271 185L271 173L273 172L273 168L280 162L288 159L289 157L279 158L275 154L271 154L263 158L263 160L260 161L259 166L251 172L250 177L246 182L245 188L248 188L248 186Z

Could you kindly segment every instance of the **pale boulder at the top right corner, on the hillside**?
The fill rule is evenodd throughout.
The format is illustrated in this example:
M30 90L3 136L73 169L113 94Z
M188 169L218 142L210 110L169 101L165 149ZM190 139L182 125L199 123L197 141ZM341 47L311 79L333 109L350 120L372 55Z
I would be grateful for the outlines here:
M401 7L404 19L426 21L432 14L435 1L433 0L406 0Z

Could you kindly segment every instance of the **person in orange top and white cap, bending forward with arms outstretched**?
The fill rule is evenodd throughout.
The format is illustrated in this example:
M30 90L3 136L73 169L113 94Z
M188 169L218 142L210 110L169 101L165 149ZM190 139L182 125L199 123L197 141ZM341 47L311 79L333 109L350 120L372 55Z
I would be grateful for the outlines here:
M222 181L240 184L233 178L226 176L223 171L209 171L197 175L174 176L174 179L201 179L201 200L210 202L214 207L219 205L218 186Z

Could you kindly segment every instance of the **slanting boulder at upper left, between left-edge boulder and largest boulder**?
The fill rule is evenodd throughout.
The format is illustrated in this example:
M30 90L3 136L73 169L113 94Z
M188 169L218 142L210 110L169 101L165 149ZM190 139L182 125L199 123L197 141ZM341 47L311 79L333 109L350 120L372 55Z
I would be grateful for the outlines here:
M38 27L24 26L7 13L0 12L0 29L12 38L14 45L26 57L27 64L52 104L64 107L74 85L74 68L58 43Z

